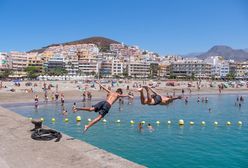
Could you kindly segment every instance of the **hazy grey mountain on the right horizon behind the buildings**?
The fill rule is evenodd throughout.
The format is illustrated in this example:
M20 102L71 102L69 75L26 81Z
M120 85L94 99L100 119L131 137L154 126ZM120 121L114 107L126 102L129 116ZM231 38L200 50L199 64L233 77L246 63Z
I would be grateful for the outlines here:
M223 56L224 59L233 59L235 61L248 60L248 52L242 49L233 49L224 45L216 45L205 53L198 55L200 59L206 59L209 56Z

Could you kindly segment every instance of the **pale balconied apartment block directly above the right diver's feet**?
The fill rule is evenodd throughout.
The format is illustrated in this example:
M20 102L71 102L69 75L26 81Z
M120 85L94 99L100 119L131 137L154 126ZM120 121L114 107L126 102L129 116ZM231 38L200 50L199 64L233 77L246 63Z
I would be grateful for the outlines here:
M150 74L150 64L147 62L130 62L128 76L134 78L147 78Z

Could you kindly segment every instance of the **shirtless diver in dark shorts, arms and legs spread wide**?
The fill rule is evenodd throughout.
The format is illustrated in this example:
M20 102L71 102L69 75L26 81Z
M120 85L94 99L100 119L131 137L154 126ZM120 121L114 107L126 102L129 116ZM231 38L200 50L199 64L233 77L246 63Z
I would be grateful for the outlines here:
M86 132L91 126L100 121L110 110L111 106L121 97L129 97L129 95L123 95L122 89L118 88L115 92L110 91L106 87L102 86L99 82L96 82L100 85L100 88L105 90L108 93L106 100L101 101L92 107L82 107L76 108L76 110L84 110L84 111L95 111L98 112L99 115L94 120L92 120L88 125L85 125L84 132Z

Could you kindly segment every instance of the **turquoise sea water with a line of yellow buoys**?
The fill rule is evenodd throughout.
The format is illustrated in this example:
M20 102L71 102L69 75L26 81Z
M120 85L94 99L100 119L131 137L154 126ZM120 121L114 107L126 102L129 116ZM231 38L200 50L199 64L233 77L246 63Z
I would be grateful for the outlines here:
M178 100L169 106L144 106L137 99L131 105L125 102L123 110L119 110L117 102L105 116L107 123L94 125L86 134L82 134L84 124L97 114L72 113L72 103L66 104L68 123L63 122L60 104L41 105L38 111L33 106L8 108L27 117L44 117L45 125L51 128L148 167L248 167L247 96L241 108L234 105L236 95L208 98L208 103L197 103L197 97L190 97L187 105ZM78 115L81 123L75 121ZM52 117L56 118L55 123L51 122ZM119 124L115 122L118 119ZM178 126L179 119L184 120L183 127ZM130 125L130 120L135 125ZM146 124L138 131L137 122L143 120L150 122L154 131L148 130ZM160 125L156 125L157 120ZM170 126L168 120L172 122ZM190 121L195 125L190 126ZM201 126L201 121L206 125ZM218 121L218 127L214 121ZM226 126L227 121L232 125ZM238 121L243 125L238 126Z

